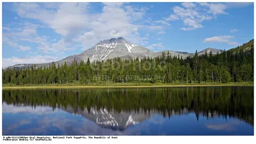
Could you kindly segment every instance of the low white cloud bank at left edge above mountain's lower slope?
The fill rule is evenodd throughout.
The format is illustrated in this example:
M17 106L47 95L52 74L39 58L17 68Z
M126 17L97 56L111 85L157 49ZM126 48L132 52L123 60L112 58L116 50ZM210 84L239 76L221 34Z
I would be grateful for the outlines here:
M44 62L58 61L60 59L63 59L63 57L52 57L49 55L3 58L3 68L13 66L15 64L40 64Z

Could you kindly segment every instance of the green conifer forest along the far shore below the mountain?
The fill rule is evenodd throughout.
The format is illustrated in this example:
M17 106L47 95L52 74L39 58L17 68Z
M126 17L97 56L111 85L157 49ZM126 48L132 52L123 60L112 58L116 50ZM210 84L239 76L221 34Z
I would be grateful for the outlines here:
M49 84L49 83L202 83L202 82L253 82L253 45L249 51L230 50L221 54L198 55L194 57L171 57L162 54L154 59L108 59L107 61L90 62L90 59L70 66L52 62L47 68L3 70L3 83Z

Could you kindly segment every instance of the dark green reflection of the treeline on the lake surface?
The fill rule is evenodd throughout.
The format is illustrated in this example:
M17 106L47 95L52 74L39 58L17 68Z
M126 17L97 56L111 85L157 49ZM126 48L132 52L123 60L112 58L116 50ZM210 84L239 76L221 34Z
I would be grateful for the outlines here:
M155 89L19 89L3 90L3 102L15 106L72 108L74 113L94 108L108 112L195 112L204 117L236 117L253 126L253 87L184 87Z

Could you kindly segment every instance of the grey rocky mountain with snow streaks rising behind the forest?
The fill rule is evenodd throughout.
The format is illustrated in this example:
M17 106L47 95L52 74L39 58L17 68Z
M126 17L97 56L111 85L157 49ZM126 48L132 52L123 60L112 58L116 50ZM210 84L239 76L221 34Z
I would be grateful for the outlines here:
M205 50L207 50L207 53L212 51L212 54L217 54L217 52L222 52L222 50L216 50L214 48L206 48L200 52L198 52L198 55L204 54ZM74 61L74 58L76 58L77 62L84 61L86 62L88 58L91 62L93 61L106 61L107 59L113 59L114 57L120 57L121 59L127 59L129 57L138 57L139 59L142 59L143 57L157 57L161 56L162 54L168 54L168 50L163 52L152 52L152 50L149 50L148 48L141 47L139 45L136 45L134 43L130 43L126 41L124 38L111 38L110 40L103 40L97 43L94 47L89 48L88 50L85 50L81 54L77 55L70 55L69 57L65 57L64 59L61 59L60 61L54 62L56 66L58 64L64 64L65 62L67 65L72 64ZM193 57L195 55L194 53L189 54L188 52L174 52L169 50L169 54L171 57L173 56L180 56L182 58L186 57ZM42 66L47 67L50 66L52 62L47 62L43 64L35 64L36 68ZM10 66L8 68L17 68L17 69L24 69L29 68L33 64L15 64L14 66Z

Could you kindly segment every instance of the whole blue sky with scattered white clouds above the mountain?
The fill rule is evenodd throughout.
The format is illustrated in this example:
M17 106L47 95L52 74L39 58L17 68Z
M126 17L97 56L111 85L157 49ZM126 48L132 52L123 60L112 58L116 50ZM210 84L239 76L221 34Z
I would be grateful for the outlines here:
M3 68L58 61L122 37L154 52L253 39L253 3L3 3Z

